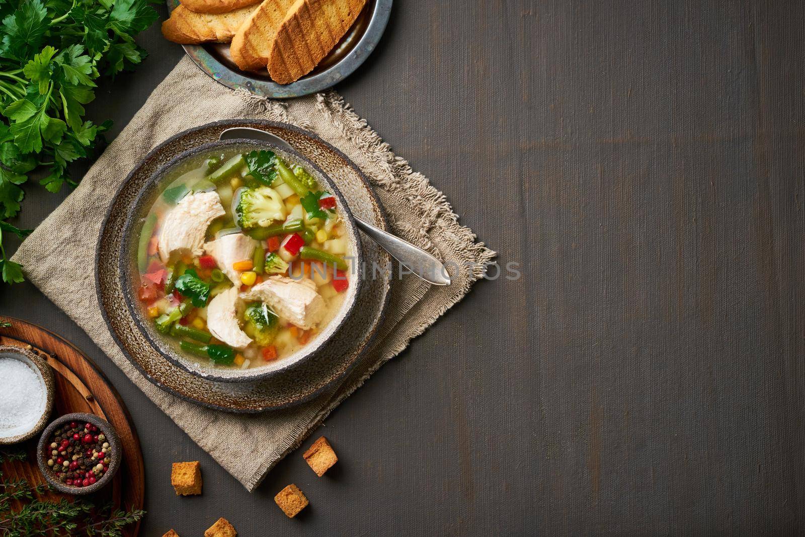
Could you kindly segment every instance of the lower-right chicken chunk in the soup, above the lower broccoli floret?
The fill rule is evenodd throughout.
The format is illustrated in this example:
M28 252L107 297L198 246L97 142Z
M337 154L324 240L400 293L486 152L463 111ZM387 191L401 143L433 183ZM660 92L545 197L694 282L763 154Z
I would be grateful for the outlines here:
M324 299L311 279L271 276L249 291L241 293L246 300L262 300L278 316L307 330L313 328L327 312Z

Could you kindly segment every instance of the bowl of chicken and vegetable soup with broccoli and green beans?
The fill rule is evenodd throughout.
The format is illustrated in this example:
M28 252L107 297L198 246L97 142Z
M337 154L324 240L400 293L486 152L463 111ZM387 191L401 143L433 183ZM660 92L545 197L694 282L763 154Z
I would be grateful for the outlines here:
M352 312L361 240L332 180L295 151L208 143L160 167L126 220L126 305L154 349L219 382L315 355Z

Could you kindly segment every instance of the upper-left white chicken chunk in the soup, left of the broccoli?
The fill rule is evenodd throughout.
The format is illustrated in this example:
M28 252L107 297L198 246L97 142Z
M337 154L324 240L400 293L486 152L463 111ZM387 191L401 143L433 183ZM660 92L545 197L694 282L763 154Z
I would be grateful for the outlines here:
M217 217L224 216L221 198L217 192L188 194L168 211L159 229L159 258L167 262L177 250L201 254L204 233Z

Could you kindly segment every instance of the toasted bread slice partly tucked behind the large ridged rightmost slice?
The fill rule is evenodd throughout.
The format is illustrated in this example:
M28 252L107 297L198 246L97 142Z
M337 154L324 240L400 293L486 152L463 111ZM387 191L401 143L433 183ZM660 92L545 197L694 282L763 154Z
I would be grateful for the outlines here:
M265 0L232 38L229 52L237 67L244 71L266 68L268 52L295 0Z

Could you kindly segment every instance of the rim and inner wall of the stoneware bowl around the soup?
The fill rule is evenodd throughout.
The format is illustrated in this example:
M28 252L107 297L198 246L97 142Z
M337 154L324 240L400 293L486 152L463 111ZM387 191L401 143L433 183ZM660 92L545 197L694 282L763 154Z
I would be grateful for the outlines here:
M140 275L137 269L138 239L142 232L142 223L145 221L149 210L166 186L164 181L165 176L170 176L171 180L175 180L175 170L187 166L188 161L199 159L200 155L208 156L211 152L241 151L246 153L248 151L266 149L274 151L287 163L303 166L316 177L316 180L322 187L336 196L338 200L337 205L339 207L338 213L344 222L346 229L345 237L349 242L349 256L352 258L352 270L350 271L349 277L350 285L345 292L343 304L338 308L338 312L336 312L332 320L324 325L321 331L316 333L316 336L313 337L307 345L304 345L301 349L295 351L295 353L283 357L281 360L274 360L268 363L262 362L262 365L259 367L250 367L245 370L237 367L215 367L197 359L191 359L177 351L173 345L168 343L167 339L162 334L157 332L154 322L147 320L142 311L142 305L136 298L137 288L140 285ZM331 339L341 337L340 328L353 312L357 304L357 296L361 292L364 280L361 236L360 233L357 232L357 225L349 210L349 204L347 204L336 184L332 182L332 179L330 179L320 167L316 166L316 163L305 159L302 155L299 155L297 151L288 151L287 148L279 147L273 143L258 142L248 139L221 140L218 142L204 143L199 147L184 151L184 153L176 155L171 159L171 162L159 167L151 176L151 179L146 181L146 184L142 186L137 200L135 200L134 204L131 206L126 224L123 225L123 237L124 243L120 251L120 272L123 276L123 293L126 298L126 306L128 306L129 312L131 316L134 317L134 322L137 323L142 334L147 337L148 341L151 343L151 347L157 349L168 361L171 361L171 363L176 366L180 366L183 370L188 371L188 373L218 382L258 381L281 374L284 370L310 359L310 357L316 353L341 353L339 350L341 345L338 345L336 341L331 342ZM351 337L351 335L348 335L348 337ZM329 345L328 342L330 343Z

